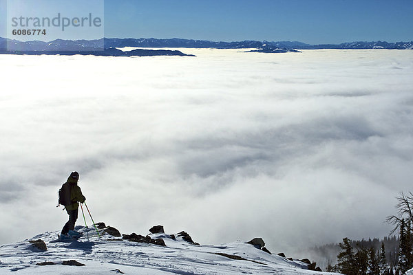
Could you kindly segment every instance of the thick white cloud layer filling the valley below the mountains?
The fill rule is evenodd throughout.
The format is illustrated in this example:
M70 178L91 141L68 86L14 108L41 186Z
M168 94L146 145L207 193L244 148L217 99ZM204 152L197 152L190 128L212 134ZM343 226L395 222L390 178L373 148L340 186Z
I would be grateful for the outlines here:
M0 243L95 221L273 252L385 236L413 178L413 52L0 56ZM81 224L81 219L78 220Z

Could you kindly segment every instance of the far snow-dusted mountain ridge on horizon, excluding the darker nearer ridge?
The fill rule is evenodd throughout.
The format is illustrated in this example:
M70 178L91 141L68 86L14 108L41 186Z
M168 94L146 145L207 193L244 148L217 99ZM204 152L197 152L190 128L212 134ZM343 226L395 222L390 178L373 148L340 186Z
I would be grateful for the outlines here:
M9 50L19 51L94 51L102 48L118 47L182 47L182 48L216 48L216 49L249 49L262 47L277 47L279 49L295 50L321 50L321 49L397 49L412 50L413 41L388 43L385 41L356 41L341 44L317 44L311 45L298 41L207 41L193 39L96 39L96 40L63 40L54 41L18 41L0 37L0 51L8 47Z

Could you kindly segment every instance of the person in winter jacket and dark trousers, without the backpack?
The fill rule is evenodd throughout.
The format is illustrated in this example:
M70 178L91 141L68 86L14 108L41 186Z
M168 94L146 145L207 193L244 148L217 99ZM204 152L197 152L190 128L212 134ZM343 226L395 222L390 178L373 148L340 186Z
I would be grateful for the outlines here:
M72 203L65 205L67 214L69 214L69 221L63 226L62 235L67 235L70 230L74 230L74 224L78 218L79 202L85 202L85 196L83 196L81 188L77 185L79 180L79 173L72 172L67 178L66 184L69 184L70 188L70 201Z

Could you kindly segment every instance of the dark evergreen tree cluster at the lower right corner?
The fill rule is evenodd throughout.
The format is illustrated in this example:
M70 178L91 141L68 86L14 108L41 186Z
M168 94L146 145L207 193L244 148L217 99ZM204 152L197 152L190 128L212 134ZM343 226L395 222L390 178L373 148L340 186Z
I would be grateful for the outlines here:
M413 268L413 193L406 195L401 192L396 199L397 212L387 217L386 221L394 225L390 234L398 231L399 236L368 241L344 238L343 243L312 248L310 253L328 259L328 272L348 275L406 274ZM337 263L332 263L336 255Z

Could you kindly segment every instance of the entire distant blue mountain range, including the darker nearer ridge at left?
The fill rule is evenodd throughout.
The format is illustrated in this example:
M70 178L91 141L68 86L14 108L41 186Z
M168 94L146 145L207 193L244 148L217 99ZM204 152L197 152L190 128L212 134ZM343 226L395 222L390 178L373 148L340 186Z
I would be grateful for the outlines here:
M299 52L298 50L319 49L397 49L412 50L413 41L388 43L350 42L341 44L310 45L297 41L235 41L215 42L193 39L98 39L98 40L62 40L44 41L17 41L0 37L0 54L94 54L103 56L152 56L152 55L180 55L187 56L180 51L165 50L134 50L123 52L119 47L183 47L183 48L218 48L218 49L257 49L251 52ZM103 50L104 49L104 50Z

